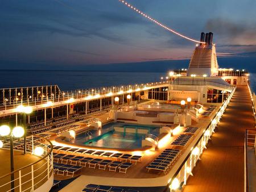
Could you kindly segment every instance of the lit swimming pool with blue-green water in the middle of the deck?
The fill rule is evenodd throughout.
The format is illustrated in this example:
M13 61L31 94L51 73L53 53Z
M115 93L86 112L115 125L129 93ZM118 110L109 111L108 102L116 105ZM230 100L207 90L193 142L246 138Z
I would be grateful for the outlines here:
M142 124L108 123L101 130L90 131L92 136L81 133L74 143L102 148L137 149L142 147L142 139L146 133L158 136L159 128Z

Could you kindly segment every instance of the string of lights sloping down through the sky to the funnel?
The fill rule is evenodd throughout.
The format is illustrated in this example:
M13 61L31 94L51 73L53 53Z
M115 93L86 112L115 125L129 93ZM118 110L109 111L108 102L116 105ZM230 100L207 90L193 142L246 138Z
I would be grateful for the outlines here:
M144 14L144 12L142 12L141 10L138 10L136 7L134 7L133 5L127 3L126 1L119 0L119 2L122 2L123 5L126 5L126 6L129 7L130 9L134 10L135 12L137 12L138 14L141 14L142 16L144 16L145 18L147 18L148 20L150 20L151 22L154 22L155 24L158 24L158 26L163 27L164 29L166 29L167 31L170 31L170 32L174 33L175 35L179 35L179 36L183 37L184 39L187 39L187 40L190 40L190 41L193 41L193 42L196 42L196 43L205 44L205 42L197 41L197 40L195 40L195 39L192 39L192 38L190 38L190 37L187 37L187 36L185 36L185 35L180 34L179 32L176 32L176 31L172 30L171 28L169 28L169 27L165 26L164 24L158 22L158 20L153 19L153 18L151 18L150 16Z

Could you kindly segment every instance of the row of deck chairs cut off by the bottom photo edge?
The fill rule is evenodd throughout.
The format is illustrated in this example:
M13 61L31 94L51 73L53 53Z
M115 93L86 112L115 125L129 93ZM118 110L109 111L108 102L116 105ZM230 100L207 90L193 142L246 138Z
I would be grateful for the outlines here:
M82 192L139 192L133 189L122 189L121 187L88 184Z

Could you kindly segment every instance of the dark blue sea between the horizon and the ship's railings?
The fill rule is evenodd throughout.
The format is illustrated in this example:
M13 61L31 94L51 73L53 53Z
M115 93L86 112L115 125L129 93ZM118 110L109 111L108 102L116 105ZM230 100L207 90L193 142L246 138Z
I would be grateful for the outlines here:
M58 85L61 90L75 90L101 86L129 85L160 81L166 73L91 72L73 70L0 70L0 89ZM256 73L250 73L251 89L256 92Z

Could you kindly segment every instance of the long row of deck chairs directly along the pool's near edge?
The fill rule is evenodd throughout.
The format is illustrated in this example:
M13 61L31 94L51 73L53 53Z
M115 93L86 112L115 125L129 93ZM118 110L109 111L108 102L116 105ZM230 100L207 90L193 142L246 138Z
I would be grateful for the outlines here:
M142 156L138 155L130 155L123 153L112 153L105 151L95 151L92 149L79 149L79 148L71 148L71 147L62 147L55 145L53 147L56 153L73 153L73 154L81 154L81 155L91 155L91 156L101 156L101 157L109 157L109 158L117 158L117 160L125 161L125 162L134 162L137 164L138 161L141 161Z

